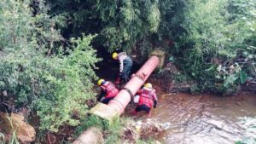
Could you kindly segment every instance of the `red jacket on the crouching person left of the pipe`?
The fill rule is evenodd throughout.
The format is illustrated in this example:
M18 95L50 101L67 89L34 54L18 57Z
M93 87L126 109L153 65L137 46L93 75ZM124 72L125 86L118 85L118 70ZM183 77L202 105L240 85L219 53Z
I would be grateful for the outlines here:
M105 84L102 84L101 88L106 93L106 98L114 97L119 93L119 89L116 89L111 82L106 82Z

